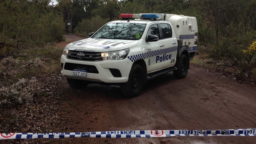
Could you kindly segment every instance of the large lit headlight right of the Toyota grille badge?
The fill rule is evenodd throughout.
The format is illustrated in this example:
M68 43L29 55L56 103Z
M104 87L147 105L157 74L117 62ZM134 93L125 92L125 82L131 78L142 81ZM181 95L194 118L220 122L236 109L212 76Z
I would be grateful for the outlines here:
M130 49L127 48L125 50L113 51L107 53L101 53L103 60L113 60L113 59L124 59L127 57Z

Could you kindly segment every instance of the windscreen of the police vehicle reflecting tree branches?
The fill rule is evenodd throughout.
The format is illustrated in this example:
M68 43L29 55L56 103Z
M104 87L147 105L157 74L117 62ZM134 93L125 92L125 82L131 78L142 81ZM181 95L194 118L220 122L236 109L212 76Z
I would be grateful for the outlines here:
M108 23L94 34L94 38L138 40L141 38L145 23Z

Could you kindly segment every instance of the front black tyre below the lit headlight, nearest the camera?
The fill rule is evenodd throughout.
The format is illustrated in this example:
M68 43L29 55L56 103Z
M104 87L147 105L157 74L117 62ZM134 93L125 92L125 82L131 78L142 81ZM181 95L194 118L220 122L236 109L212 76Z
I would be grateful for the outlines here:
M133 64L127 83L121 84L122 93L128 97L139 96L144 86L143 69L138 64Z

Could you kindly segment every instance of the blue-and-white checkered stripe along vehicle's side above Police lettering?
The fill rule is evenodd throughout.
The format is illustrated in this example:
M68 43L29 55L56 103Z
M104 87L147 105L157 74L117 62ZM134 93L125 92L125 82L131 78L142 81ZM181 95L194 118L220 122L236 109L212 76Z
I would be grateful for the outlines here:
M175 46L175 47L170 47L170 48L165 48L165 49L160 49L160 50L148 51L146 53L141 53L138 55L127 56L127 58L129 58L132 62L135 62L139 59L146 59L146 58L150 58L152 56L158 56L158 55L170 53L170 52L177 51L177 50L178 50L178 46Z

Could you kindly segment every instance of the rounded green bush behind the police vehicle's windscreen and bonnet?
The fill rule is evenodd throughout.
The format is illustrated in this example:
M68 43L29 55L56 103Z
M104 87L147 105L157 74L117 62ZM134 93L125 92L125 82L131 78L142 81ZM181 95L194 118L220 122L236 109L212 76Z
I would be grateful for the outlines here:
M80 34L83 37L87 37L87 34L90 32L96 32L100 27L106 24L109 19L103 19L99 16L91 18L91 20L83 19L82 22L78 23L78 26L75 27L76 34Z

